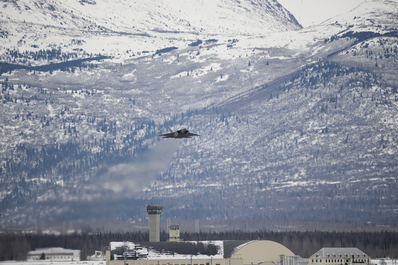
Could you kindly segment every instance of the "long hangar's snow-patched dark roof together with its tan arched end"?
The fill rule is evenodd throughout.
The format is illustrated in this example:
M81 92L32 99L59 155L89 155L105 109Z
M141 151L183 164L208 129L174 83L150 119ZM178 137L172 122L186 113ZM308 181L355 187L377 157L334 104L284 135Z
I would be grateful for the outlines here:
M113 260L123 260L123 242L111 242ZM295 254L285 246L269 241L174 241L126 243L127 260L243 259L246 264L279 264L280 256Z

